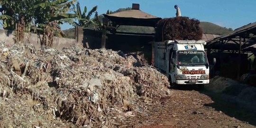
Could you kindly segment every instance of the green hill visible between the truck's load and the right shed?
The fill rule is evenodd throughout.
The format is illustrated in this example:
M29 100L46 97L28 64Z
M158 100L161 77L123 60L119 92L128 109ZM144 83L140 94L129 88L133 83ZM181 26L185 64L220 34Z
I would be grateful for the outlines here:
M233 31L232 28L221 27L210 22L200 22L199 26L202 28L203 33L207 34L224 35Z

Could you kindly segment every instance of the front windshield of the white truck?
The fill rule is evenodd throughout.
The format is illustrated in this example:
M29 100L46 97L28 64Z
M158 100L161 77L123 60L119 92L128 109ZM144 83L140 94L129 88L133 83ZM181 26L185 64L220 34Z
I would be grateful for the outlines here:
M180 65L207 64L206 55L203 51L178 51L177 60L177 63Z

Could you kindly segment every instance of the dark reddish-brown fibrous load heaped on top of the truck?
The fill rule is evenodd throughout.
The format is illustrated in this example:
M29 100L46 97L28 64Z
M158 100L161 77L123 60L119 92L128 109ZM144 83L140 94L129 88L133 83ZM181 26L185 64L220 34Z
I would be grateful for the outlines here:
M199 24L200 21L195 18L164 18L157 23L155 40L200 40L202 29L199 27Z

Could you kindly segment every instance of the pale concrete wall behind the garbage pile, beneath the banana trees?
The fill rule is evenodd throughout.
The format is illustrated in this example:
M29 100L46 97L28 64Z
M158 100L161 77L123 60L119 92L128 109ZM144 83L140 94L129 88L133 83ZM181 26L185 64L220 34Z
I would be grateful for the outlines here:
M0 41L6 42L9 45L14 44L14 35L15 31L0 29ZM30 37L30 41L28 41L28 37ZM40 35L40 37L42 37L42 35ZM41 48L40 39L38 38L37 34L31 33L29 36L28 33L25 33L24 43L33 44L37 50L40 50ZM62 49L63 47L71 46L74 43L76 43L75 39L54 37L53 47L57 49Z

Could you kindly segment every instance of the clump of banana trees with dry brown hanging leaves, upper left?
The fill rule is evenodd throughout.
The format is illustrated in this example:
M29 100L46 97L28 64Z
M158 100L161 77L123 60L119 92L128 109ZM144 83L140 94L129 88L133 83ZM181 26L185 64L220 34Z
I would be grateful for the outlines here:
M38 34L44 35L42 44L51 44L53 35L61 36L59 25L76 17L75 14L67 13L74 2L76 1L1 0L0 20L3 21L4 29L24 32L19 29L25 28L26 32L30 32L33 28ZM18 37L22 39L22 36Z

